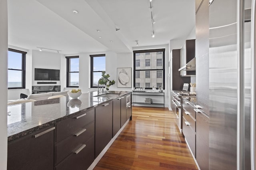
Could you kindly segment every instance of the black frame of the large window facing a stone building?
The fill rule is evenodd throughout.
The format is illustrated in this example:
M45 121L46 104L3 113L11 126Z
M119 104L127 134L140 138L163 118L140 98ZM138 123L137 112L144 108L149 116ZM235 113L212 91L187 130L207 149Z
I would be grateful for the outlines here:
M162 52L162 69L136 69L136 54L137 53L147 53L147 52ZM136 77L135 77L135 72L136 71L162 71L162 79L163 79L163 82L162 82L162 87L163 89L165 89L165 49L147 49L147 50L136 50L136 51L133 51L133 61L134 61L134 65L133 65L133 86L135 86L135 80L136 80ZM151 65L151 63L150 63ZM146 59L145 59L145 67L146 66ZM150 76L150 79L152 79L152 77ZM145 88L145 89L152 89L152 88Z

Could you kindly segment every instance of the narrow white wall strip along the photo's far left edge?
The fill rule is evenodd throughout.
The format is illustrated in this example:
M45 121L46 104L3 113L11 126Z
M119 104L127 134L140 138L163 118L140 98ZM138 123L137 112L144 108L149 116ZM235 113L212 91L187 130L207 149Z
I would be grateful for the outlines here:
M7 168L7 54L8 54L8 22L7 0L0 0L0 169Z

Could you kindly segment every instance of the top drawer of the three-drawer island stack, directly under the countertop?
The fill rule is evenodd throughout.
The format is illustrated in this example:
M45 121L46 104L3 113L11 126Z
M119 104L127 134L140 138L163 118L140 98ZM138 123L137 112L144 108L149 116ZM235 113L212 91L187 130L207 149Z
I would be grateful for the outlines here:
M70 134L73 134L80 128L93 121L94 109L82 112L79 115L70 117L64 121L56 123L56 142L59 142L60 140L68 137Z

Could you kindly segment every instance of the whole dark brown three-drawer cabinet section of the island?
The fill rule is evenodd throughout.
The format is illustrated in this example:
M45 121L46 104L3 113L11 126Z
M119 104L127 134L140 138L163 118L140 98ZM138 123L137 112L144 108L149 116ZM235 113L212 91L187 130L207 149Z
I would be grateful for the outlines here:
M55 169L87 169L94 161L94 109L55 126Z

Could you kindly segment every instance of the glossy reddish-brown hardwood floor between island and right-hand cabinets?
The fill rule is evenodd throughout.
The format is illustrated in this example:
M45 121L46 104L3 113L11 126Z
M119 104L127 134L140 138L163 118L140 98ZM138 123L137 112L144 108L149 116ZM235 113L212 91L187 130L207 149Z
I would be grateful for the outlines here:
M94 170L196 170L172 111L133 107L132 121Z

